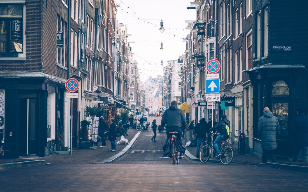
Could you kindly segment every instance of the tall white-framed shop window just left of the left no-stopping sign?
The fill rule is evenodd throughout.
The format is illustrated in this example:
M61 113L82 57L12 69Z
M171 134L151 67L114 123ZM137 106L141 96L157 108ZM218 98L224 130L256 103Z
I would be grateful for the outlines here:
M47 141L55 139L56 93L48 91L47 97Z

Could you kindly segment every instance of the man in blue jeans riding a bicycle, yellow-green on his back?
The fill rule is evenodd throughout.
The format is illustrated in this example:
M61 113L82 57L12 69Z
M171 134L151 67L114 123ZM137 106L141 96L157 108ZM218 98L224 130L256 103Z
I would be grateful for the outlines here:
M221 143L222 140L224 139L229 139L229 134L227 131L226 126L230 127L230 121L227 120L226 115L222 115L221 120L215 125L214 127L210 128L209 131L217 130L219 132L219 135L214 141L214 148L216 151L216 158L221 156L220 150L219 150L219 144Z

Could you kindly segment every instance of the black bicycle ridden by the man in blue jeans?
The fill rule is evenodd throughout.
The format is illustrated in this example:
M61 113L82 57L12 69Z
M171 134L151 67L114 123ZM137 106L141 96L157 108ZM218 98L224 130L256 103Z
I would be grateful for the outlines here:
M206 163L211 155L216 156L216 152L214 150L214 139L213 135L219 135L219 133L213 133L211 132L211 137L210 137L210 142L208 141L202 141L202 143L205 143L205 145L201 148L200 153L199 153L199 159L201 163ZM229 143L228 139L224 139L220 143L220 152L221 156L218 157L220 159L221 163L224 165L228 165L231 163L233 159L233 149L232 149L232 144Z

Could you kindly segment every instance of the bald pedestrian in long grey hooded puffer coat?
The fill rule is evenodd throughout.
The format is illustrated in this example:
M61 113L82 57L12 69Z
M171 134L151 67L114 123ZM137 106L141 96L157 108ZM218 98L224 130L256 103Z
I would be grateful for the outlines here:
M258 133L261 137L261 147L263 150L262 163L267 163L267 155L272 156L272 162L276 162L274 150L277 148L276 133L279 130L279 123L268 107L264 108L263 116L258 123Z

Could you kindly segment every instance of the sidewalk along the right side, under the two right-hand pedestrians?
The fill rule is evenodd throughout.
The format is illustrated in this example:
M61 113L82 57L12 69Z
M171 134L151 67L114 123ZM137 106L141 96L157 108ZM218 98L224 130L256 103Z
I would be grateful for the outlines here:
M182 139L182 142L184 145L185 143L184 138ZM185 147L185 148L186 148L185 155L188 159L193 161L200 161L196 157L197 147ZM210 158L210 162L220 163L220 161L215 157ZM293 162L293 161L287 161L285 159L276 159L276 163L271 163L271 159L267 159L267 162L268 163L262 163L262 158L258 157L257 155L253 154L239 155L237 151L233 151L233 160L231 163L253 164L258 166L267 166L267 167L275 167L288 170L296 170L301 172L308 172L308 163L304 162Z

